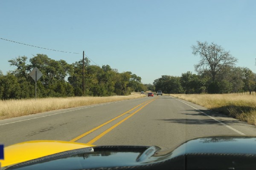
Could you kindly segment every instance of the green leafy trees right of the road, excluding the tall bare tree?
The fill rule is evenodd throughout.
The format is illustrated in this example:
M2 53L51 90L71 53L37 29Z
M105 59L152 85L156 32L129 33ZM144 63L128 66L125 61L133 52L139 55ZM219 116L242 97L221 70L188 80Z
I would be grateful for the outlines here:
M163 93L200 94L200 93L237 93L256 91L256 74L246 67L227 67L213 82L209 72L193 74L188 71L181 76L162 75L154 80L156 90Z

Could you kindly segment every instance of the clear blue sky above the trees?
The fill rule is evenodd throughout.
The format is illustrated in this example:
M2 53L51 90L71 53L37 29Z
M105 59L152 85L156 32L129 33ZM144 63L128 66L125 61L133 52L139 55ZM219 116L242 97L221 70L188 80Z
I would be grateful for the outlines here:
M195 73L197 40L221 45L238 58L236 66L256 72L256 0L0 0L0 21L1 38L84 50L99 66L131 71L143 83ZM36 54L68 63L82 58L0 40L0 70L14 70L12 58Z

